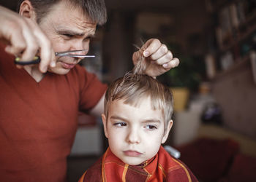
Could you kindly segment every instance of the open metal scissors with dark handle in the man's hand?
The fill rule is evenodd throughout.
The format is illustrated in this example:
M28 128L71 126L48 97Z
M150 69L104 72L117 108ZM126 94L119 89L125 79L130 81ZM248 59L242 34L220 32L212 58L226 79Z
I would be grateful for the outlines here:
M75 54L71 54L72 52L81 52L81 51L86 51L86 50L69 50L69 51L64 51L64 52L55 52L56 56L67 56L67 57L72 57L72 58L95 58L95 55L75 55ZM23 61L20 60L19 57L16 57L14 60L14 63L17 65L31 65L31 64L38 64L40 63L41 58L39 56L35 56L33 58L33 60L29 60L29 61Z

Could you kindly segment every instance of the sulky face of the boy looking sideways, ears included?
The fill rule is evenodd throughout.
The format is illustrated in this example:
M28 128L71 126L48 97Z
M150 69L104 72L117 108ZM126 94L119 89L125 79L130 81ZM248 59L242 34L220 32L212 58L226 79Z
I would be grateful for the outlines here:
M143 99L136 107L125 104L124 100L114 100L108 118L102 114L111 151L128 165L140 165L151 159L161 143L165 143L173 124L168 122L165 131L164 118L161 110L152 110L150 98Z

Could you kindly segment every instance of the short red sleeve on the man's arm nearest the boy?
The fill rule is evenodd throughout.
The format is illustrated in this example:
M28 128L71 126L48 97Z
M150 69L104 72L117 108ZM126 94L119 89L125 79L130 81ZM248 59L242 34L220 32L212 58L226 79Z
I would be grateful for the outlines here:
M91 74L81 66L80 72L80 111L89 111L97 105L107 90L107 84L102 84L95 74Z

